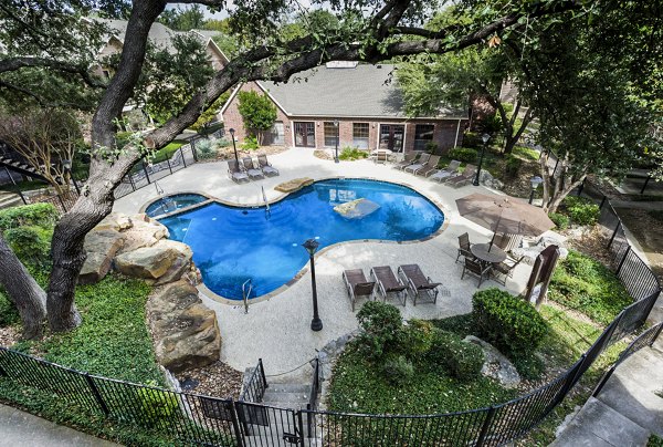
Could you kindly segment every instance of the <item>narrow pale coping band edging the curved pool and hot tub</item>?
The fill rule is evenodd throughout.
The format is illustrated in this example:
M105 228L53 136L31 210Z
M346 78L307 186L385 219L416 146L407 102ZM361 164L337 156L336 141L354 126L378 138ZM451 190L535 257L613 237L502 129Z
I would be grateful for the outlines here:
M381 183L387 183L387 184L391 184L391 185L399 185L399 186L404 186L407 188L412 189L413 191L415 191L417 194L421 195L423 198L425 198L427 200L429 200L430 202L432 202L434 206L438 207L438 209L440 209L440 211L442 211L443 216L444 216L444 221L442 222L442 225L440 226L440 228L438 228L436 231L430 233L429 236L427 236L425 238L420 238L420 239L412 239L412 240L406 240L406 241L397 241L397 240L388 240L388 239L357 239L357 240L347 240L347 241L343 241L343 242L336 242L333 243L330 246L327 246L325 248L323 248L322 250L317 251L314 257L317 259L319 257L322 257L323 254L325 254L327 251L341 246L341 245L346 245L346 243L366 243L366 242L373 242L373 243L393 243L393 245L410 245L410 243L419 243L419 242L425 242L428 240L434 239L436 237L439 237L442 232L444 232L444 230L446 230L446 228L449 227L449 218L448 216L450 216L451 210L448 209L446 206L444 206L443 204L441 204L439 200L430 197L428 194L420 191L418 188L415 188L414 186L404 183L404 181L391 181L391 180L383 180L381 178L375 178L375 177L345 177L345 176L332 176L332 177L324 177L324 178L319 178L319 179L315 179L314 183L318 183L318 181L325 181L325 180L373 180L373 181L381 181ZM307 185L308 186L308 185ZM187 190L187 191L178 191L177 194L171 194L169 196L176 196L176 195L183 195L183 194L198 194L200 196L207 197L207 200L201 201L199 204L194 204L194 205L190 205L188 207L185 208L180 208L177 209L175 211L171 212L167 212L164 215L159 215L157 217L155 217L154 219L156 220L160 220L160 219L165 219L167 217L172 217L182 212L188 212L191 211L193 209L197 208L201 208L203 206L210 205L214 201L221 204L221 205L225 205L225 206L230 206L230 207L235 207L235 208L261 208L261 207L265 207L266 205L273 205L276 204L283 199L285 199L287 196L290 196L291 194L297 193L302 188L296 189L294 191L290 191L290 193L283 193L281 194L278 197L272 199L272 200L267 200L266 204L234 204L224 199L220 199L218 197L214 197L210 194L203 193L203 191L192 191L192 190ZM162 197L157 197L155 199L148 200L145 205L143 205L140 207L140 212L145 212L145 209L147 209L148 206L150 206L151 204L154 204L157 200L160 200ZM260 297L255 297L255 298L251 298L249 299L249 305L251 304L256 304L263 301L269 301L272 298L285 292L286 290L288 290L292 285L294 285L295 283L297 283L307 272L308 272L308 262L290 280L287 281L285 284L278 287L277 289L274 289L273 291L271 291L270 293L265 293L263 295ZM201 282L200 284L197 285L198 291L202 294L204 294L207 298L217 301L219 303L222 304L228 304L228 305L233 305L233 306L238 306L238 305L243 305L243 300L231 300L229 298L222 297L215 292L213 292L212 290L210 290L203 282Z

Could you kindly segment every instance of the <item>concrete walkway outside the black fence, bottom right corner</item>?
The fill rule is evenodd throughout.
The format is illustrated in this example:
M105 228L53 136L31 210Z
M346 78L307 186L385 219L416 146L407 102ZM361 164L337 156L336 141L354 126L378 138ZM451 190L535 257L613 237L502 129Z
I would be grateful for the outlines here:
M597 398L590 398L550 445L645 446L663 436L663 336L618 366Z

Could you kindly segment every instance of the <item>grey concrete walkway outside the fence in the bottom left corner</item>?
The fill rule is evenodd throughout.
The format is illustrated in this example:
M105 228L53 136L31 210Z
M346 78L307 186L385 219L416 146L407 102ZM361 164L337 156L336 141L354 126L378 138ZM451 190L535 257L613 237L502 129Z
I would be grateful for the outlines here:
M109 443L0 405L0 447L110 447Z

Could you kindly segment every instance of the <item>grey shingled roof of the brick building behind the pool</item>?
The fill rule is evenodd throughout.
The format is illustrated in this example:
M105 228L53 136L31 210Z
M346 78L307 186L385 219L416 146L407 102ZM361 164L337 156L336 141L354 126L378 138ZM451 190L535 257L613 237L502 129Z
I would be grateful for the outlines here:
M290 116L408 117L394 65L337 65L346 67L319 66L285 84L259 84ZM442 108L435 117L464 118L467 112Z

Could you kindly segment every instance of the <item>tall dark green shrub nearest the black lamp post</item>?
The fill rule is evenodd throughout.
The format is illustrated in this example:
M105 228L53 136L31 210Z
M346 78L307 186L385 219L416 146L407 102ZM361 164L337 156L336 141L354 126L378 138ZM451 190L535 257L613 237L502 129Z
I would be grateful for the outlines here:
M357 312L357 320L361 328L358 343L368 357L382 358L398 350L402 319L396 306L379 301L368 301Z

